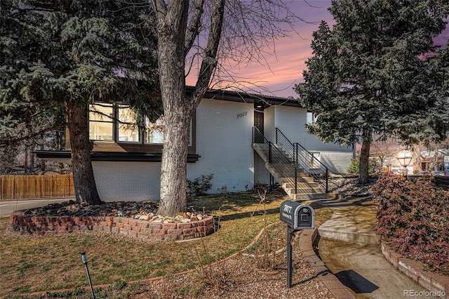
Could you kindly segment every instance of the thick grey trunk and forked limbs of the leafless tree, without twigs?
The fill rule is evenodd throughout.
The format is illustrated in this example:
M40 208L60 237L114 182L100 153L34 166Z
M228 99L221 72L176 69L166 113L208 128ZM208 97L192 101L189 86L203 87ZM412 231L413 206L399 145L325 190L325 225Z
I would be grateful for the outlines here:
M189 1L152 0L156 11L158 32L159 81L166 133L161 164L161 201L159 214L175 215L187 208L187 149L189 122L208 87L217 65L225 0L213 1L208 44L196 81L195 91L185 95L185 57L199 32L204 1L196 3L187 29ZM187 37L186 37L187 34Z

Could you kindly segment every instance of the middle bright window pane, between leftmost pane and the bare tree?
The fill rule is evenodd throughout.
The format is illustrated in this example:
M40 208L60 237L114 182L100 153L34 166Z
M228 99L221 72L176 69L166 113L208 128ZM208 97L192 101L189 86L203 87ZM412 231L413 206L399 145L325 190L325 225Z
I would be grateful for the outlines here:
M138 117L128 106L119 105L119 142L140 142Z

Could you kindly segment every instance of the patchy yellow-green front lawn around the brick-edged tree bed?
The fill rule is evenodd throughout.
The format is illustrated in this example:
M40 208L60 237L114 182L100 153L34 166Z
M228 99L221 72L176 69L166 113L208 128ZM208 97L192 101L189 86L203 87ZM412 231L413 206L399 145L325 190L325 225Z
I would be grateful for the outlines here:
M80 255L81 251L86 251L93 284L114 284L112 289L102 288L97 297L106 292L105 298L112 298L111 292L120 293L125 286L132 288L138 284L133 281L192 270L199 263L213 263L240 251L265 224L279 220L279 206L286 199L288 197L281 192L267 194L265 206L255 192L190 199L189 208L208 211L220 218L220 229L204 238L208 248L213 248L211 254L203 251L199 240L146 243L100 232L58 237L8 235L4 234L8 218L0 218L0 296L27 298L26 293L60 289L80 292L81 287L88 286ZM317 221L325 220L332 213L329 208L314 208ZM176 292L182 295L186 290ZM68 293L61 296L69 297ZM114 298L121 298L121 295Z

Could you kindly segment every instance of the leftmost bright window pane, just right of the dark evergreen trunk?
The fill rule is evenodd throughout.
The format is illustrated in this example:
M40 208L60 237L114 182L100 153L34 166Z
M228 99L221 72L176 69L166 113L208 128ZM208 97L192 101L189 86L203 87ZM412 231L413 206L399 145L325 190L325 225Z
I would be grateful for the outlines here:
M112 104L90 105L89 138L114 141L114 107Z

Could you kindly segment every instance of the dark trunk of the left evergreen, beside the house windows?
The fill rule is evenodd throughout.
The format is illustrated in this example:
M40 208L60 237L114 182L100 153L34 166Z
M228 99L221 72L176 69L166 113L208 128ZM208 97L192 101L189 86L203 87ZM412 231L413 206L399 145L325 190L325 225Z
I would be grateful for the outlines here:
M93 177L91 142L88 131L88 106L86 103L67 102L67 124L72 149L73 182L76 202L101 204Z

